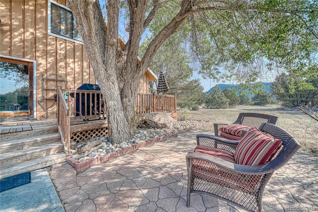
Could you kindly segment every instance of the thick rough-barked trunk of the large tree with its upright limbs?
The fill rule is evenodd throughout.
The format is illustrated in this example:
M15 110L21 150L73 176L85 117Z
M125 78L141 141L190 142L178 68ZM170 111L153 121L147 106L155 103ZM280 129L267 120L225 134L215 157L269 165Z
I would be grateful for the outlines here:
M138 47L144 31L147 0L129 1L131 32L124 48L118 36L119 0L107 5L107 25L98 0L67 0L76 17L77 27L100 85L107 109L110 139L120 143L131 139L136 124L133 116L140 80L146 69L137 66Z

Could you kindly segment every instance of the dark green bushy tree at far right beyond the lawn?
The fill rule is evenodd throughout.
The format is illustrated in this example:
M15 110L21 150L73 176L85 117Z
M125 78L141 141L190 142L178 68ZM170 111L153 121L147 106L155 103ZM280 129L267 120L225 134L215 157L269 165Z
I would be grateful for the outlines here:
M282 106L318 106L318 78L295 79L283 73L272 83L270 93Z

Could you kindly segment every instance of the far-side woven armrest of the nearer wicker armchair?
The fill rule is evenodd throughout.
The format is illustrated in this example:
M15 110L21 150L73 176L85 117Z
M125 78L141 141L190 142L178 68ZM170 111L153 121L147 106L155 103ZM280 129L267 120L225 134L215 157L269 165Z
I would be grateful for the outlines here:
M230 140L216 135L197 134L197 145L208 146L218 149L224 149L229 152L234 152L239 144L239 141Z

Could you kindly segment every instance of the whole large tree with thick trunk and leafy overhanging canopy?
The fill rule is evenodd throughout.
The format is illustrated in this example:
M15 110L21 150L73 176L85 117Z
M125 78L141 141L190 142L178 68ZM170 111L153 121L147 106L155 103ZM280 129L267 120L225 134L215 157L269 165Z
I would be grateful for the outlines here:
M199 73L252 82L288 71L317 76L318 2L315 0L108 0L107 27L98 0L67 0L105 98L108 131L118 143L134 133L139 82L173 34ZM120 11L128 39L119 44ZM160 21L159 21L160 20ZM145 30L151 41L137 64Z

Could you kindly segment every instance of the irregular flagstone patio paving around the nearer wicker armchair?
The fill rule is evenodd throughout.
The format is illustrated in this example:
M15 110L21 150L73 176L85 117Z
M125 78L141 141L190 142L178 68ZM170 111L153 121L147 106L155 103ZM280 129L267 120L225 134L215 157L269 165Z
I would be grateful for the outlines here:
M77 173L54 165L51 179L66 212L235 212L207 195L191 195L186 207L185 155L196 146L188 131ZM276 171L263 195L265 212L318 211L318 158L298 152Z

